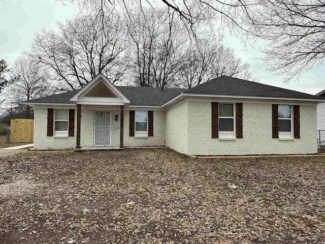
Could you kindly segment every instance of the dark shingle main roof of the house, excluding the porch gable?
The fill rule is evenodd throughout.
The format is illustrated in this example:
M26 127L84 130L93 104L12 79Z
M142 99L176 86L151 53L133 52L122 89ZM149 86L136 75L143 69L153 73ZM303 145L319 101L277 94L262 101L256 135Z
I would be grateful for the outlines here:
M306 93L296 92L295 90L279 88L228 76L220 76L190 89L164 88L161 90L161 88L156 87L131 86L116 86L116 88L118 88L120 92L131 101L130 105L132 106L160 106L180 93L325 100L325 97L317 97ZM52 95L49 97L30 100L28 102L71 104L72 102L70 102L69 99L78 91L79 90L74 90L73 92Z

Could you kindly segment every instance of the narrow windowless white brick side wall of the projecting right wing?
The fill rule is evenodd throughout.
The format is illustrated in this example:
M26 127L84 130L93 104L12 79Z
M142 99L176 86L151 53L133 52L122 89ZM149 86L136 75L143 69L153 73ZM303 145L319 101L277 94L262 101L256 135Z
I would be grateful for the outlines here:
M166 111L166 142L167 146L187 154L187 102Z

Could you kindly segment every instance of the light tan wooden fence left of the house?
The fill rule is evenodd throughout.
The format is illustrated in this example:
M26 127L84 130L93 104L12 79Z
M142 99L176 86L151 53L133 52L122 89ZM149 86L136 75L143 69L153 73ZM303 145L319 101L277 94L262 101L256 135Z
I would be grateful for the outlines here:
M11 119L10 127L11 143L34 142L34 119Z

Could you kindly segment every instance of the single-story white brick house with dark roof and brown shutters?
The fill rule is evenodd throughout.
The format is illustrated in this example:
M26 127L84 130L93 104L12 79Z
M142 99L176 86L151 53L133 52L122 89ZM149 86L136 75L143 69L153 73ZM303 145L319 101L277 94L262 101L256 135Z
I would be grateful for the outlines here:
M103 74L80 90L26 102L36 148L168 146L190 155L317 153L325 98L221 76L190 89L114 86Z

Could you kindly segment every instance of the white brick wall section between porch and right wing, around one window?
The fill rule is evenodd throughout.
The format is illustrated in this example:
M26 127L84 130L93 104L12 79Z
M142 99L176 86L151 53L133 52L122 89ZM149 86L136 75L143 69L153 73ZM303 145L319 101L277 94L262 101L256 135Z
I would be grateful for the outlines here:
M129 136L129 111L124 110L124 146L165 146L165 122L165 111L153 111L153 136L147 138Z

